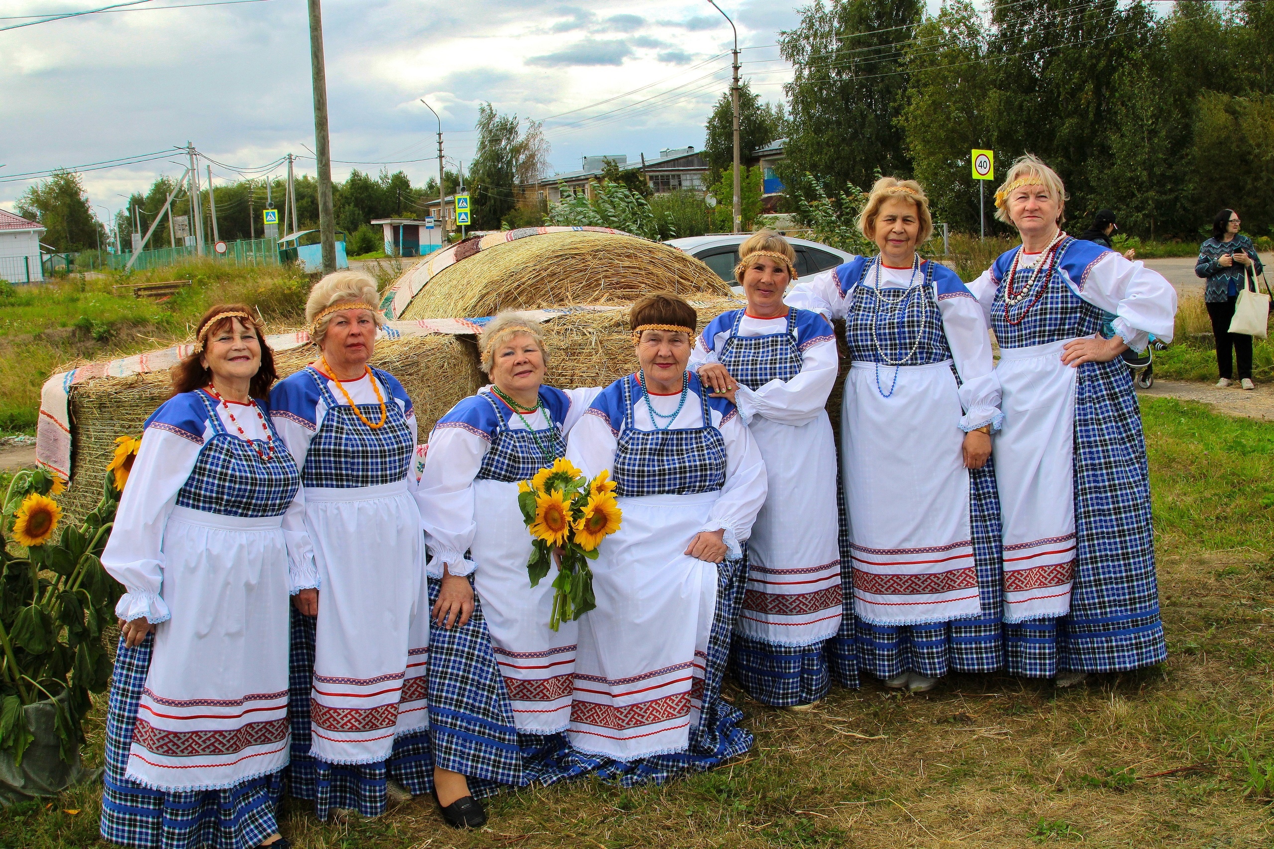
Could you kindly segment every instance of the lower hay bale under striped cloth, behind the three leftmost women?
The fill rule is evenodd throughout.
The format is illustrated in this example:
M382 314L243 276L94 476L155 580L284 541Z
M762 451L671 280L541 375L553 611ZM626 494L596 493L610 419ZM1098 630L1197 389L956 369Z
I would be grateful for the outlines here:
M302 345L275 354L279 377L304 368L315 349ZM397 377L415 407L419 439L460 399L485 384L478 370L478 352L471 339L452 335L404 337L376 343L372 365ZM141 424L171 391L169 372L153 371L127 377L98 377L76 384L70 391L71 487L60 502L75 520L97 504L106 465L115 451L115 439L138 435Z

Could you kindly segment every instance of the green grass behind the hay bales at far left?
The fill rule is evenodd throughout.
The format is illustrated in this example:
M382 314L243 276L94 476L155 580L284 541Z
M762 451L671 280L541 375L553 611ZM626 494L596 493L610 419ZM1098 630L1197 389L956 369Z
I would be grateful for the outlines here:
M117 284L191 280L164 302L134 298ZM293 268L233 268L223 263L80 275L31 286L0 286L0 433L33 433L39 388L61 366L121 357L190 335L214 303L243 301L271 324L298 325L310 280Z

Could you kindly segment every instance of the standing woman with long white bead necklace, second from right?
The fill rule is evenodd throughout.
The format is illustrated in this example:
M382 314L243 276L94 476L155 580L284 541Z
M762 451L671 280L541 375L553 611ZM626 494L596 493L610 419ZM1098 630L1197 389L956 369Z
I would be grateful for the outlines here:
M916 252L933 232L920 184L878 180L859 228L880 252L803 280L787 303L845 319L841 458L859 667L924 692L949 671L1003 664L987 464L1000 390L977 301Z

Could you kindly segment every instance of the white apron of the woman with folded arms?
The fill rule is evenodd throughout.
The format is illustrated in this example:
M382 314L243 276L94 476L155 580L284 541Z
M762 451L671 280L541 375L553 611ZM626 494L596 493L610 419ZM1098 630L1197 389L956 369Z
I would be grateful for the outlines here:
M832 422L823 412L796 427L757 416L748 430L769 488L748 539L739 631L773 645L822 642L841 627ZM828 533L806 532L815 528Z

